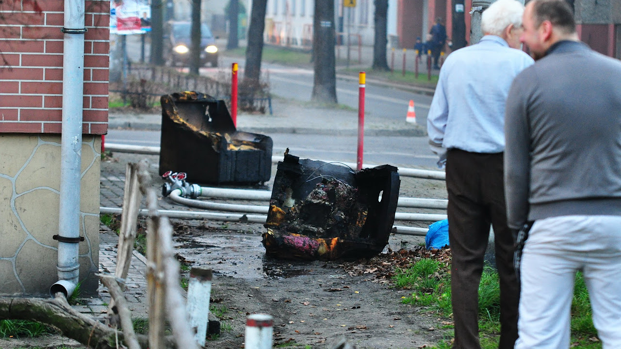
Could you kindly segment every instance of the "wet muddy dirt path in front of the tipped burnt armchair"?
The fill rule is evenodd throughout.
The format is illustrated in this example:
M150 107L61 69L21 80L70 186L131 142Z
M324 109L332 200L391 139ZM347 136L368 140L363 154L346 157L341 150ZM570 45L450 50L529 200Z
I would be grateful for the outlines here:
M213 305L227 309L224 330L208 348L242 347L245 317L253 313L274 316L274 345L285 347L323 348L339 335L360 348L419 348L442 339L437 316L402 304L411 291L390 281L394 266L425 256L420 237L391 235L385 253L360 261L286 261L265 255L259 224L181 226L176 252L214 270ZM401 247L414 251L392 250Z

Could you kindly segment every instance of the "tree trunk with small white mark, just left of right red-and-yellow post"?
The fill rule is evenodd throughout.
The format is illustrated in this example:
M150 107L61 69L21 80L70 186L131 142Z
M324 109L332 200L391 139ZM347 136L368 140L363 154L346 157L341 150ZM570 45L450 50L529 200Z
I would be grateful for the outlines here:
M334 39L334 0L315 0L312 40L315 76L312 101L337 104Z

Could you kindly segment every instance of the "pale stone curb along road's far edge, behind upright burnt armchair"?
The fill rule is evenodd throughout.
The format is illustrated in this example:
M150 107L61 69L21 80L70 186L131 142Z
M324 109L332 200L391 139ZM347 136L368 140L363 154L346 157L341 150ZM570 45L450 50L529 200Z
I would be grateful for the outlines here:
M161 130L160 124L147 124L144 122L111 122L108 129L131 129L131 130ZM357 129L313 129L311 127L240 127L240 131L253 134L299 134L299 135L332 135L332 136L355 136ZM424 137L427 132L420 126L412 129L366 129L365 135L369 137Z

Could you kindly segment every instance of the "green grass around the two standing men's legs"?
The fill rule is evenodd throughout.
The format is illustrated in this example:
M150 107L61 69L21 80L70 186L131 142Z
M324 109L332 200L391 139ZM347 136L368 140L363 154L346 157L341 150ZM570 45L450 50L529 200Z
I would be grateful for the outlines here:
M394 282L399 288L412 289L412 295L402 299L404 304L424 307L442 317L450 317L451 289L448 268L436 260L422 259L409 268L397 268ZM586 284L581 273L576 274L574 297L571 304L571 343L572 348L601 349L597 331L591 320L591 303ZM498 347L500 333L500 286L496 270L489 266L483 269L479 284L479 336L481 348ZM452 325L443 328L452 328ZM451 338L446 337L437 343L439 349L451 347Z

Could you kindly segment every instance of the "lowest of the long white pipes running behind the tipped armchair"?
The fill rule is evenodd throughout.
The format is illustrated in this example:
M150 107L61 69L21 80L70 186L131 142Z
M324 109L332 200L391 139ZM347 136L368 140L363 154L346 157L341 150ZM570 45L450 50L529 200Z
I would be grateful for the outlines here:
M99 207L100 214L120 214L122 209L120 207ZM224 220L226 222L251 222L264 224L266 215L251 215L251 214L223 214L217 212L202 212L202 211L176 211L176 210L158 210L159 214L165 215L168 218L176 219L212 219L212 220ZM139 215L148 216L148 210L142 209L138 212ZM399 235L419 235L425 236L427 229L417 227L406 227L403 225L393 225L397 228L396 234Z

